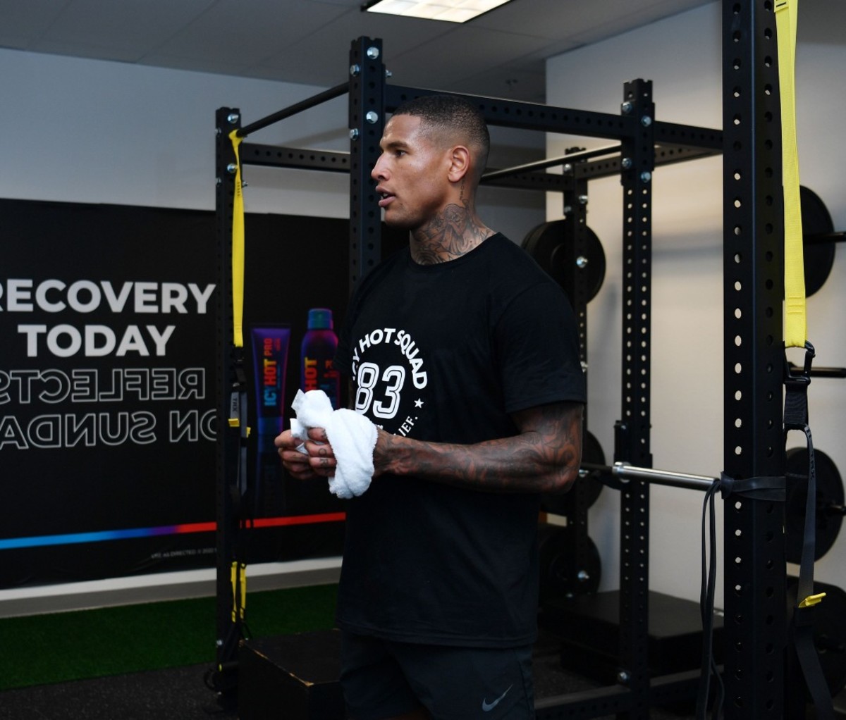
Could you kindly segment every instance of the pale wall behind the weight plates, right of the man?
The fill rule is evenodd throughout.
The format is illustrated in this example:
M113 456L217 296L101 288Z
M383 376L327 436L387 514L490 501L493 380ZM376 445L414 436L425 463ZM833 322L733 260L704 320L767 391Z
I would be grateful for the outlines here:
M846 109L842 87L846 46L826 31L843 20L837 0L805 3L799 10L797 103L801 182L826 203L836 230L846 227L839 122ZM838 7L840 5L841 7ZM813 6L813 7L812 7ZM547 102L597 112L620 112L625 81L653 81L656 119L722 127L722 8L708 3L609 41L552 58ZM834 17L839 15L839 19ZM842 25L840 25L842 27ZM608 141L550 136L547 154L573 145ZM602 240L607 275L588 307L591 432L607 460L620 411L622 335L622 189L618 178L591 183L588 224ZM722 470L722 158L658 168L653 175L653 281L651 347L651 450L654 466L717 476ZM547 199L547 219L561 217L559 196ZM846 366L846 261L809 298L809 340L816 364ZM810 421L817 450L846 472L842 423L846 381L814 379ZM798 437L793 437L798 436ZM790 445L799 445L792 434ZM651 491L650 586L698 600L702 494L676 488ZM618 586L618 497L604 491L591 508L590 535L603 562L601 589ZM722 521L722 503L717 507ZM720 570L722 575L722 527ZM788 567L794 574L797 569ZM816 578L843 585L846 538L816 565ZM722 598L722 577L717 587ZM722 604L721 599L717 604Z

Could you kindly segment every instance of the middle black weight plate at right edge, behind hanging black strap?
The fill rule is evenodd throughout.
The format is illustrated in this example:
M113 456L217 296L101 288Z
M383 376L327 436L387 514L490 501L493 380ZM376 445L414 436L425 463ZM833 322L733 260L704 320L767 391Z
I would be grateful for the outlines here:
M825 555L834 544L843 524L843 481L838 466L821 450L814 450L816 464L816 541L814 559ZM805 533L805 503L808 499L808 450L792 448L787 452L785 553L788 562L802 559L802 538Z

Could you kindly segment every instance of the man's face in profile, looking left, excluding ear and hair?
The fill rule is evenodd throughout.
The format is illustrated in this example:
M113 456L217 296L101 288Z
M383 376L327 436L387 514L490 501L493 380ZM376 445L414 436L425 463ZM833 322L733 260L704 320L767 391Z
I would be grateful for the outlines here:
M421 131L420 117L396 115L382 134L382 155L373 167L385 222L414 230L448 202L449 150Z

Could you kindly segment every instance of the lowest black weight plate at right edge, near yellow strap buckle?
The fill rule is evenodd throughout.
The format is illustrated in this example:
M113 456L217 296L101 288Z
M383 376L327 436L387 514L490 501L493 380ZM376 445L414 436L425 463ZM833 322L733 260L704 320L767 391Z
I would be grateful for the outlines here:
M788 619L792 617L797 604L798 586L798 578L788 577ZM826 597L814 606L814 645L817 657L820 658L822 675L833 697L846 687L846 592L838 586L815 581L814 594L820 592L825 592ZM791 687L805 688L805 679L797 663L792 663L789 668L787 680ZM810 701L810 695L808 699Z

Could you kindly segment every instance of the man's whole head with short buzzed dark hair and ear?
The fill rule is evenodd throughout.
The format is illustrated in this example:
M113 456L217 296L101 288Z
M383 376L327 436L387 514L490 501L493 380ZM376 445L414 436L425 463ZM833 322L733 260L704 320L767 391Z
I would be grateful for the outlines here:
M448 207L475 216L489 145L481 113L460 98L426 95L399 107L385 124L371 172L385 221L414 230Z

